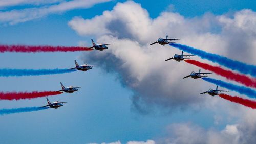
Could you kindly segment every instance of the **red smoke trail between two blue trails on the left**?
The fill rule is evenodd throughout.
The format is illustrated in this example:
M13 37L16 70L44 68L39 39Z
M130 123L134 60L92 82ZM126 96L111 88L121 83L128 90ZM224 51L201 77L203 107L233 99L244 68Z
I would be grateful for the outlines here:
M61 94L60 91L0 92L0 100L20 100Z

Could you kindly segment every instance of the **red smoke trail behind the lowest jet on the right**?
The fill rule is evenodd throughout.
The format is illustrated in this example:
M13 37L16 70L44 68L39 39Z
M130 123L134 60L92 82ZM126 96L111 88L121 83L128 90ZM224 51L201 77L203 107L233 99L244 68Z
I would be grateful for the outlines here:
M228 101L231 101L231 102L239 103L241 105L250 107L252 109L256 108L256 101L252 101L252 100L248 100L248 99L243 99L243 98L236 97L236 96L232 97L232 96L227 95L227 94L219 94L219 97L221 97L223 99L226 99Z

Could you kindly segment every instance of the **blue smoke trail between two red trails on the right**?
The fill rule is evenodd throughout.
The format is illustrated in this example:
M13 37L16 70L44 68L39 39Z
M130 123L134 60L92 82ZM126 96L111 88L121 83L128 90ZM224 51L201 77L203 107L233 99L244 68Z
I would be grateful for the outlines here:
M236 91L236 92L238 92L240 94L245 94L248 97L256 98L256 91L251 89L251 88L247 88L247 87L244 87L244 86L234 85L234 84L231 84L231 83L223 82L221 80L216 80L216 79L212 79L212 78L202 78L202 79L207 81L207 82L219 85L221 87L225 87L227 89Z

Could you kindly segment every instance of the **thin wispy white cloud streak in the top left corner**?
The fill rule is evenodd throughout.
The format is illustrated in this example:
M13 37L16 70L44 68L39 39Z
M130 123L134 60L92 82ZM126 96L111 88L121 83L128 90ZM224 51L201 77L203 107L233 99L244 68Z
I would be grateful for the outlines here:
M14 9L10 11L2 11L0 12L0 23L9 23L10 25L14 25L19 22L25 22L32 19L41 18L47 16L49 14L58 14L65 11L73 10L73 9L80 9L80 8L90 8L95 4L109 2L110 0L73 0L73 1L63 1L59 2L58 4L54 5L47 5L41 7L32 7L26 9ZM12 1L13 5L14 2ZM19 3L26 3L27 1L20 1ZM28 2L27 2L28 3ZM33 4L33 1L30 2ZM37 2L40 3L40 2ZM1 4L1 3L0 3ZM8 4L2 4L8 5ZM9 3L11 5L11 3Z

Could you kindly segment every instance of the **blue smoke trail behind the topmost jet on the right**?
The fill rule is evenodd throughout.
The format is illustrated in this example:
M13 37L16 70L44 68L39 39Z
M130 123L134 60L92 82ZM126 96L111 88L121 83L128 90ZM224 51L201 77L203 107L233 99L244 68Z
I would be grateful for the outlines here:
M212 62L219 63L220 65L223 65L227 68L230 68L232 70L238 70L240 73L243 74L250 74L253 77L256 77L256 66L255 65L248 65L239 61L231 60L226 57L217 55L217 54L211 54L207 53L202 50L195 49L193 47L177 44L177 43L170 43L171 46L176 47L182 51L185 51L187 53L197 55L203 59L210 60Z

